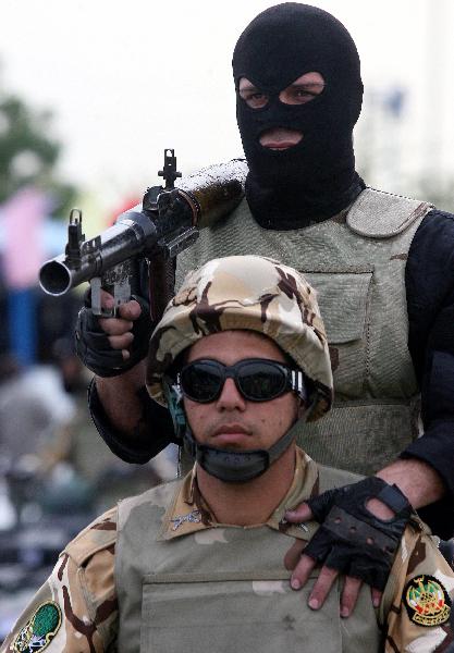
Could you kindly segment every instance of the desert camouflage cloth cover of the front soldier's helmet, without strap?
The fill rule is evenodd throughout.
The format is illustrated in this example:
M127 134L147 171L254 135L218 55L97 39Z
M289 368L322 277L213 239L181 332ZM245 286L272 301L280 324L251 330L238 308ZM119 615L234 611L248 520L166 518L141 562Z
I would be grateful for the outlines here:
M329 409L333 381L316 294L296 270L258 256L214 259L186 276L151 335L151 397L165 406L162 377L176 356L201 337L231 329L269 336L315 382L309 421Z

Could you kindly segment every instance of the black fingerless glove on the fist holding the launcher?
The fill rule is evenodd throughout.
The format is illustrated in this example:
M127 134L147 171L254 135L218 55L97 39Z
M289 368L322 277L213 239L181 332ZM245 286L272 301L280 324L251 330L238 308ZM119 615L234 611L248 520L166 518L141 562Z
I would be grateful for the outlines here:
M148 341L151 335L149 304L143 297L133 295L140 305L140 316L133 322L134 340L128 347L130 358L123 360L121 349L113 349L109 336L99 325L98 317L93 315L89 292L85 294L85 306L79 310L75 328L75 352L79 360L98 377L118 377L131 370L148 354Z

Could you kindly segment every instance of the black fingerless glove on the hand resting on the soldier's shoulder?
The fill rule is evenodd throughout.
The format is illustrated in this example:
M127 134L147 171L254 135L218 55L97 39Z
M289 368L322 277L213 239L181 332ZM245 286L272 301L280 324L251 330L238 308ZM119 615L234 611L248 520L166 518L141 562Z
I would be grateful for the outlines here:
M366 508L370 498L389 506L394 517L382 520ZM396 485L378 477L328 490L307 502L320 528L304 553L346 576L383 590L412 506Z

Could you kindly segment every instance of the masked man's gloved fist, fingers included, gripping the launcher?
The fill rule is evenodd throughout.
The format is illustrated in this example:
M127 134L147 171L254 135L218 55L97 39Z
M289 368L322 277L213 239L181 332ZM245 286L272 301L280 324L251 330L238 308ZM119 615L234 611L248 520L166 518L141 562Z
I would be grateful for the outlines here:
M102 305L113 306L113 298L101 291ZM135 367L148 353L151 334L149 304L133 295L119 308L115 318L98 318L90 308L87 291L77 316L75 352L79 360L98 377L116 377Z

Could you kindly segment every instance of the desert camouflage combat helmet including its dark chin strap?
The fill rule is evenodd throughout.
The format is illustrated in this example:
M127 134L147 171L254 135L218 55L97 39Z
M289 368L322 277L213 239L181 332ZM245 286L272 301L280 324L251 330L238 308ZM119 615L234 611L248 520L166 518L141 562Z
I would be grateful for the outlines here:
M292 385L306 404L302 419L318 419L332 402L323 322L315 293L298 272L259 256L214 259L191 272L151 335L147 387L154 399L169 407L185 451L209 475L226 482L250 481L265 473L294 442L299 422L268 449L230 451L194 438L175 378L177 364L173 364L201 337L238 329L267 335L302 370L300 381Z

